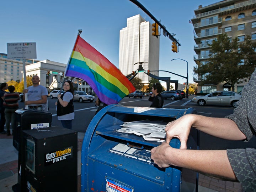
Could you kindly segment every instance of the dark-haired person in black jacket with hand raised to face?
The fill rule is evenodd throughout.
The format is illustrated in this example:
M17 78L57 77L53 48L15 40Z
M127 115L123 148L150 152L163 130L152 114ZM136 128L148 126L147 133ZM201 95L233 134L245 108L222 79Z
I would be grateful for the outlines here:
M162 85L160 83L155 83L152 86L152 95L149 97L149 101L151 101L150 107L162 108L164 105L164 98L160 94L162 91Z

